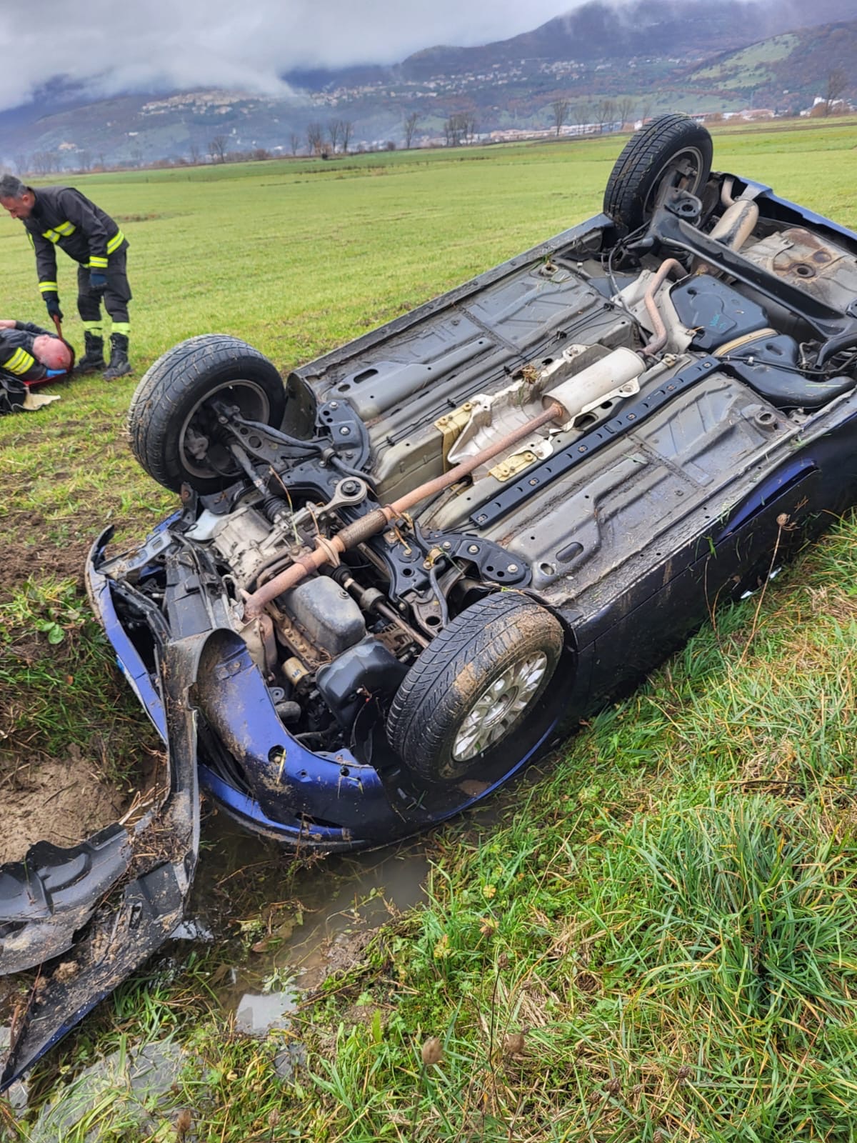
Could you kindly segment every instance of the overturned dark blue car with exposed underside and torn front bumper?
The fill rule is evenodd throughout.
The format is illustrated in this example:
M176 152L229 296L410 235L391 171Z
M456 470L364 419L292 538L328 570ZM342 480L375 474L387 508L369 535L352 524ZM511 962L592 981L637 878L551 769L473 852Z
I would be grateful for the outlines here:
M602 214L285 383L221 335L152 366L133 448L181 504L87 576L169 749L173 845L129 874L150 817L6 866L3 970L75 970L5 1081L181 918L198 781L296 849L425 829L857 499L857 235L711 165L660 117Z

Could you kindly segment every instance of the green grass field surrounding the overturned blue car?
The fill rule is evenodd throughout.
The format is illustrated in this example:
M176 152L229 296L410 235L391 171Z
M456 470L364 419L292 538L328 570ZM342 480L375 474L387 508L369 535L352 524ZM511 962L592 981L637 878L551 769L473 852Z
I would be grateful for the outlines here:
M857 227L856 138L841 120L732 127L715 166ZM622 142L77 185L131 243L135 377L208 331L286 371L595 213ZM43 321L6 217L0 250L0 317ZM69 259L59 287L79 344ZM77 379L50 408L0 419L0 780L74 746L121 781L153 746L80 589L105 522L138 535L174 503L130 456L134 385ZM436 833L425 906L383 928L289 1032L224 1025L222 950L155 966L40 1065L29 1118L0 1101L0 1138L857 1138L856 538L839 521L761 600L716 614L498 824ZM278 892L289 897L288 870ZM278 1053L298 1041L305 1058L283 1078ZM166 1095L111 1079L34 1134L40 1103L72 1106L85 1063L165 1044L184 1050Z

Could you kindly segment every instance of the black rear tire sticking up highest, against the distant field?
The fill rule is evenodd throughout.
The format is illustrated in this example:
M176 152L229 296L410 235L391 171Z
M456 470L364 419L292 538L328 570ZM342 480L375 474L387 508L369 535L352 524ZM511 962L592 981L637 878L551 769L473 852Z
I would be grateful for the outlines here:
M658 115L622 149L604 191L604 214L622 234L651 217L667 184L699 194L711 174L714 145L702 123L688 115Z

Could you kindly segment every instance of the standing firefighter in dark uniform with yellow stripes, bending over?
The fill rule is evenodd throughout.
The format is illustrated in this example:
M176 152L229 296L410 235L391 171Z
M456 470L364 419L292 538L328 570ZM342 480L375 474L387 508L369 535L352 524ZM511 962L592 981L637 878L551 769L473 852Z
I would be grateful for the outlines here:
M128 362L128 303L126 274L128 240L110 215L72 186L43 186L34 191L15 175L0 177L0 205L19 218L35 250L39 289L48 313L62 321L56 272L58 246L78 263L78 312L83 322L85 353L79 373L104 370L113 381L131 371ZM101 302L111 317L110 362L104 361Z

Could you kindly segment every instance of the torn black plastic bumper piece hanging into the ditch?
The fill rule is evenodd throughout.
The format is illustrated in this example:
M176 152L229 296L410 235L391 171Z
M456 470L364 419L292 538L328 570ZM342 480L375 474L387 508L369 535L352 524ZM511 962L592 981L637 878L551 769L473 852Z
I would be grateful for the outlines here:
M11 1031L0 1092L139 968L182 920L199 852L197 722L187 688L202 642L170 647L161 671L170 789L160 810L71 849L41 842L23 863L0 869L0 974L40 966Z

